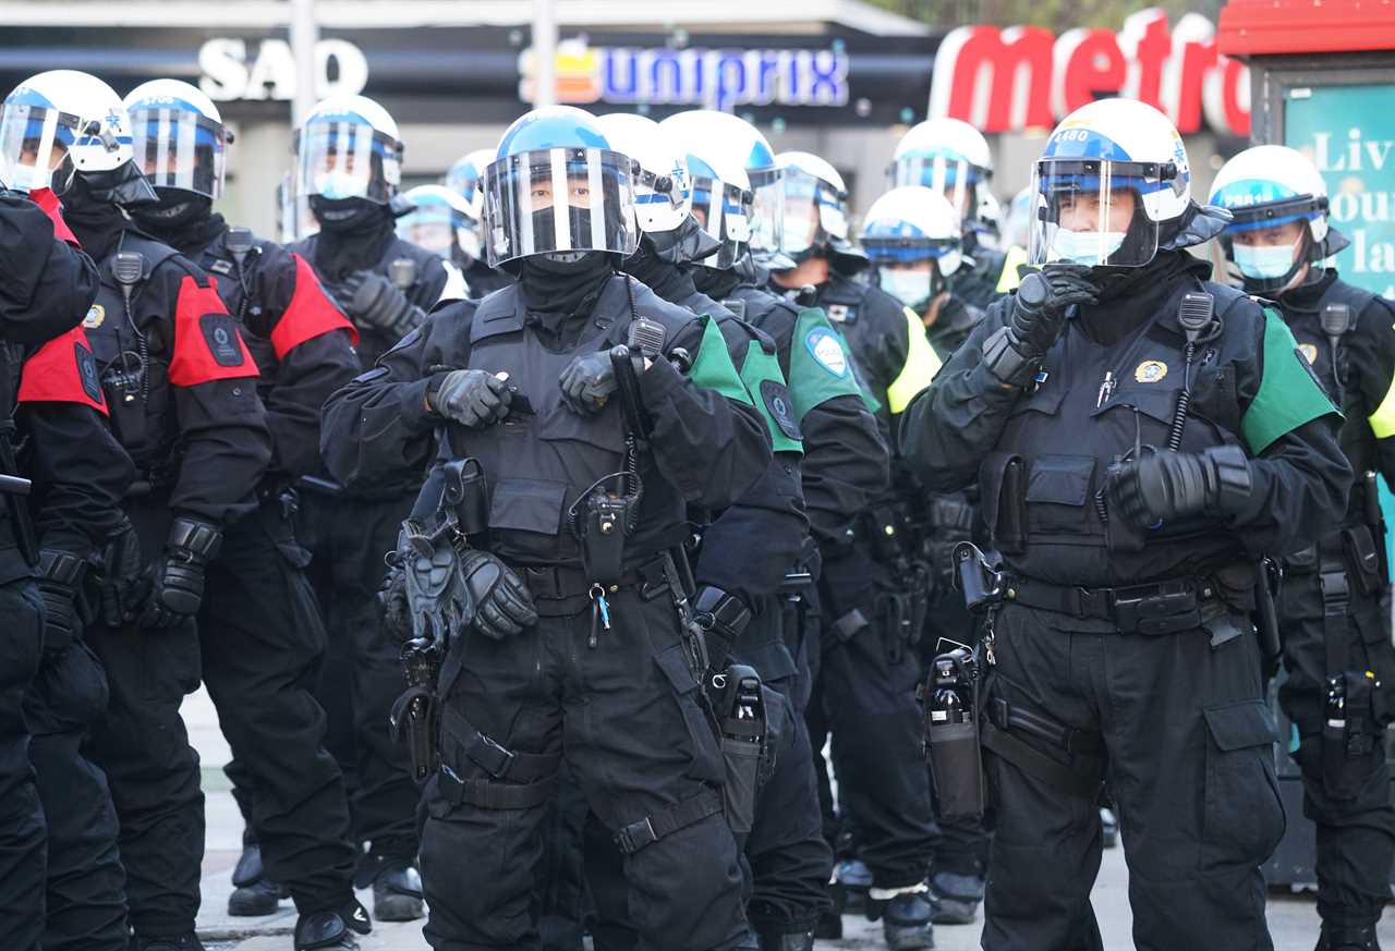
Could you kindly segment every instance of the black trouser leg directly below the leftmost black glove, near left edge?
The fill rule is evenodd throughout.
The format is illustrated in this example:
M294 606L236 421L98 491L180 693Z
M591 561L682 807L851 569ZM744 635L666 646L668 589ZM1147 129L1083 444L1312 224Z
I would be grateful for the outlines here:
M80 749L106 703L106 675L81 640L46 654L24 697L49 826L43 951L126 951L116 807L102 770Z

